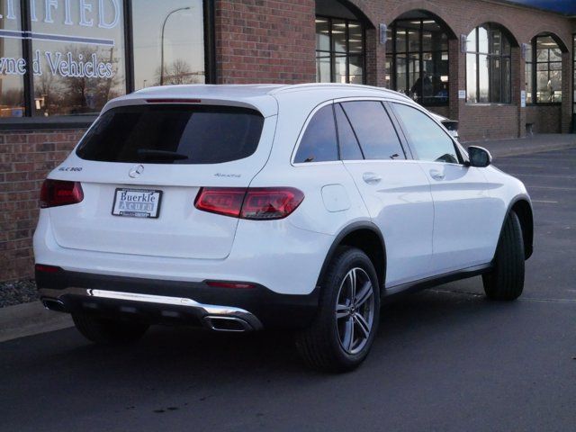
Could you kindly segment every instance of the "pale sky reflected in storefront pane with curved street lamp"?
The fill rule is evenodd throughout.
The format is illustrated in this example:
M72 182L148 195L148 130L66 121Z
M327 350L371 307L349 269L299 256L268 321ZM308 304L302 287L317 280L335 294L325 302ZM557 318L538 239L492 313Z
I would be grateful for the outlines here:
M175 60L184 60L186 80L204 82L204 36L202 0L134 0L134 77L136 89L157 85L161 57L162 23L171 11L164 35L165 74L170 76ZM202 75L198 75L198 74ZM165 84L169 84L166 80Z

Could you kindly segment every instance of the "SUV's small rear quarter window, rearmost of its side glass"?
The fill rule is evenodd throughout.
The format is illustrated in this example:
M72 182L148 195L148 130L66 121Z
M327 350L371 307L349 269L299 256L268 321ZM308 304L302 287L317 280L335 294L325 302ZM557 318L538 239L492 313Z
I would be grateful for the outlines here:
M336 124L332 104L318 110L309 121L294 162L325 162L338 160Z

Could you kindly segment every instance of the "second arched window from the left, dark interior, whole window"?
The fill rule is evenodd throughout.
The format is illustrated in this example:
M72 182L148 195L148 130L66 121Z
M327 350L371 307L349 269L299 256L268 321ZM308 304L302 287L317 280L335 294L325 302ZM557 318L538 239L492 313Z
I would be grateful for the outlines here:
M390 88L423 105L448 104L446 31L428 17L397 19L388 29L386 70Z

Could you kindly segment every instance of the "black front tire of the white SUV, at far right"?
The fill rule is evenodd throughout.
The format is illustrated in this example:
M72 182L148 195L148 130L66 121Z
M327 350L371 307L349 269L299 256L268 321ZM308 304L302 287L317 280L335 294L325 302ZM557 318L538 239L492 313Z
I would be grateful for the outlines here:
M514 211L504 223L500 234L494 268L482 275L484 293L490 300L512 301L524 289L524 240L520 220Z

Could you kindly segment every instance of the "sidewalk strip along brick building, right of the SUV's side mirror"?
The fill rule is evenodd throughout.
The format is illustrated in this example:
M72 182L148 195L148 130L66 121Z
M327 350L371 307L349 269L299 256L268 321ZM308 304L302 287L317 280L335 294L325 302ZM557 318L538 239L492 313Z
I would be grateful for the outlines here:
M462 141L464 148L480 146L487 148L492 157L526 155L541 151L576 147L574 133L543 133L517 139L487 139L482 141Z

